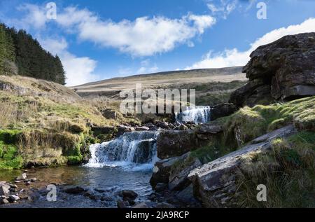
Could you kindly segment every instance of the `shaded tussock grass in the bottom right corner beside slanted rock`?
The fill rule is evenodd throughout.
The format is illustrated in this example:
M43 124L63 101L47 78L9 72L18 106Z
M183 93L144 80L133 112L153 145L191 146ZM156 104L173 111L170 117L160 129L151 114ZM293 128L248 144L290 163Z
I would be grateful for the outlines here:
M315 132L275 139L272 151L243 160L240 206L315 207ZM256 200L258 184L267 186L267 202Z

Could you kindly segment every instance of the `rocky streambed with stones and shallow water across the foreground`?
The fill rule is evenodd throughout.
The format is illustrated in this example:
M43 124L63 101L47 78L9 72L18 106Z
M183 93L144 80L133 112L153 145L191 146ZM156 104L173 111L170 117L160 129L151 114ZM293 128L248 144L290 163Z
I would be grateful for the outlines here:
M181 197L167 191L155 193L151 171L125 171L120 167L49 167L0 172L1 207L185 207ZM22 176L20 181L17 177ZM36 176L36 179L34 179ZM32 181L31 183L28 183ZM50 201L56 188L56 201ZM8 190L6 189L8 188ZM0 190L0 192L1 192ZM185 198L183 193L183 198Z

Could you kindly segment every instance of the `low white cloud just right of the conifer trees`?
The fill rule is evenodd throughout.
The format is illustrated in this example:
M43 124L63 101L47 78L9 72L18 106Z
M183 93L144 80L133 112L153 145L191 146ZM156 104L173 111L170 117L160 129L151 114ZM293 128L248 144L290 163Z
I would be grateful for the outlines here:
M80 85L99 80L99 76L94 74L97 62L89 57L76 57L76 55L69 53L68 43L64 38L39 39L39 41L45 50L53 55L59 55L66 71L66 85Z

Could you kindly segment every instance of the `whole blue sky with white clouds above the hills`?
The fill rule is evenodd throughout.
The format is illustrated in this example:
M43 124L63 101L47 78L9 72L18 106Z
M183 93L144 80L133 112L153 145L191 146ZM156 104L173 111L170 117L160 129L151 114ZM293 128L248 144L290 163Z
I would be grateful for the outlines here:
M176 69L244 65L252 50L286 34L315 32L315 1L0 0L0 20L58 54L68 85Z

